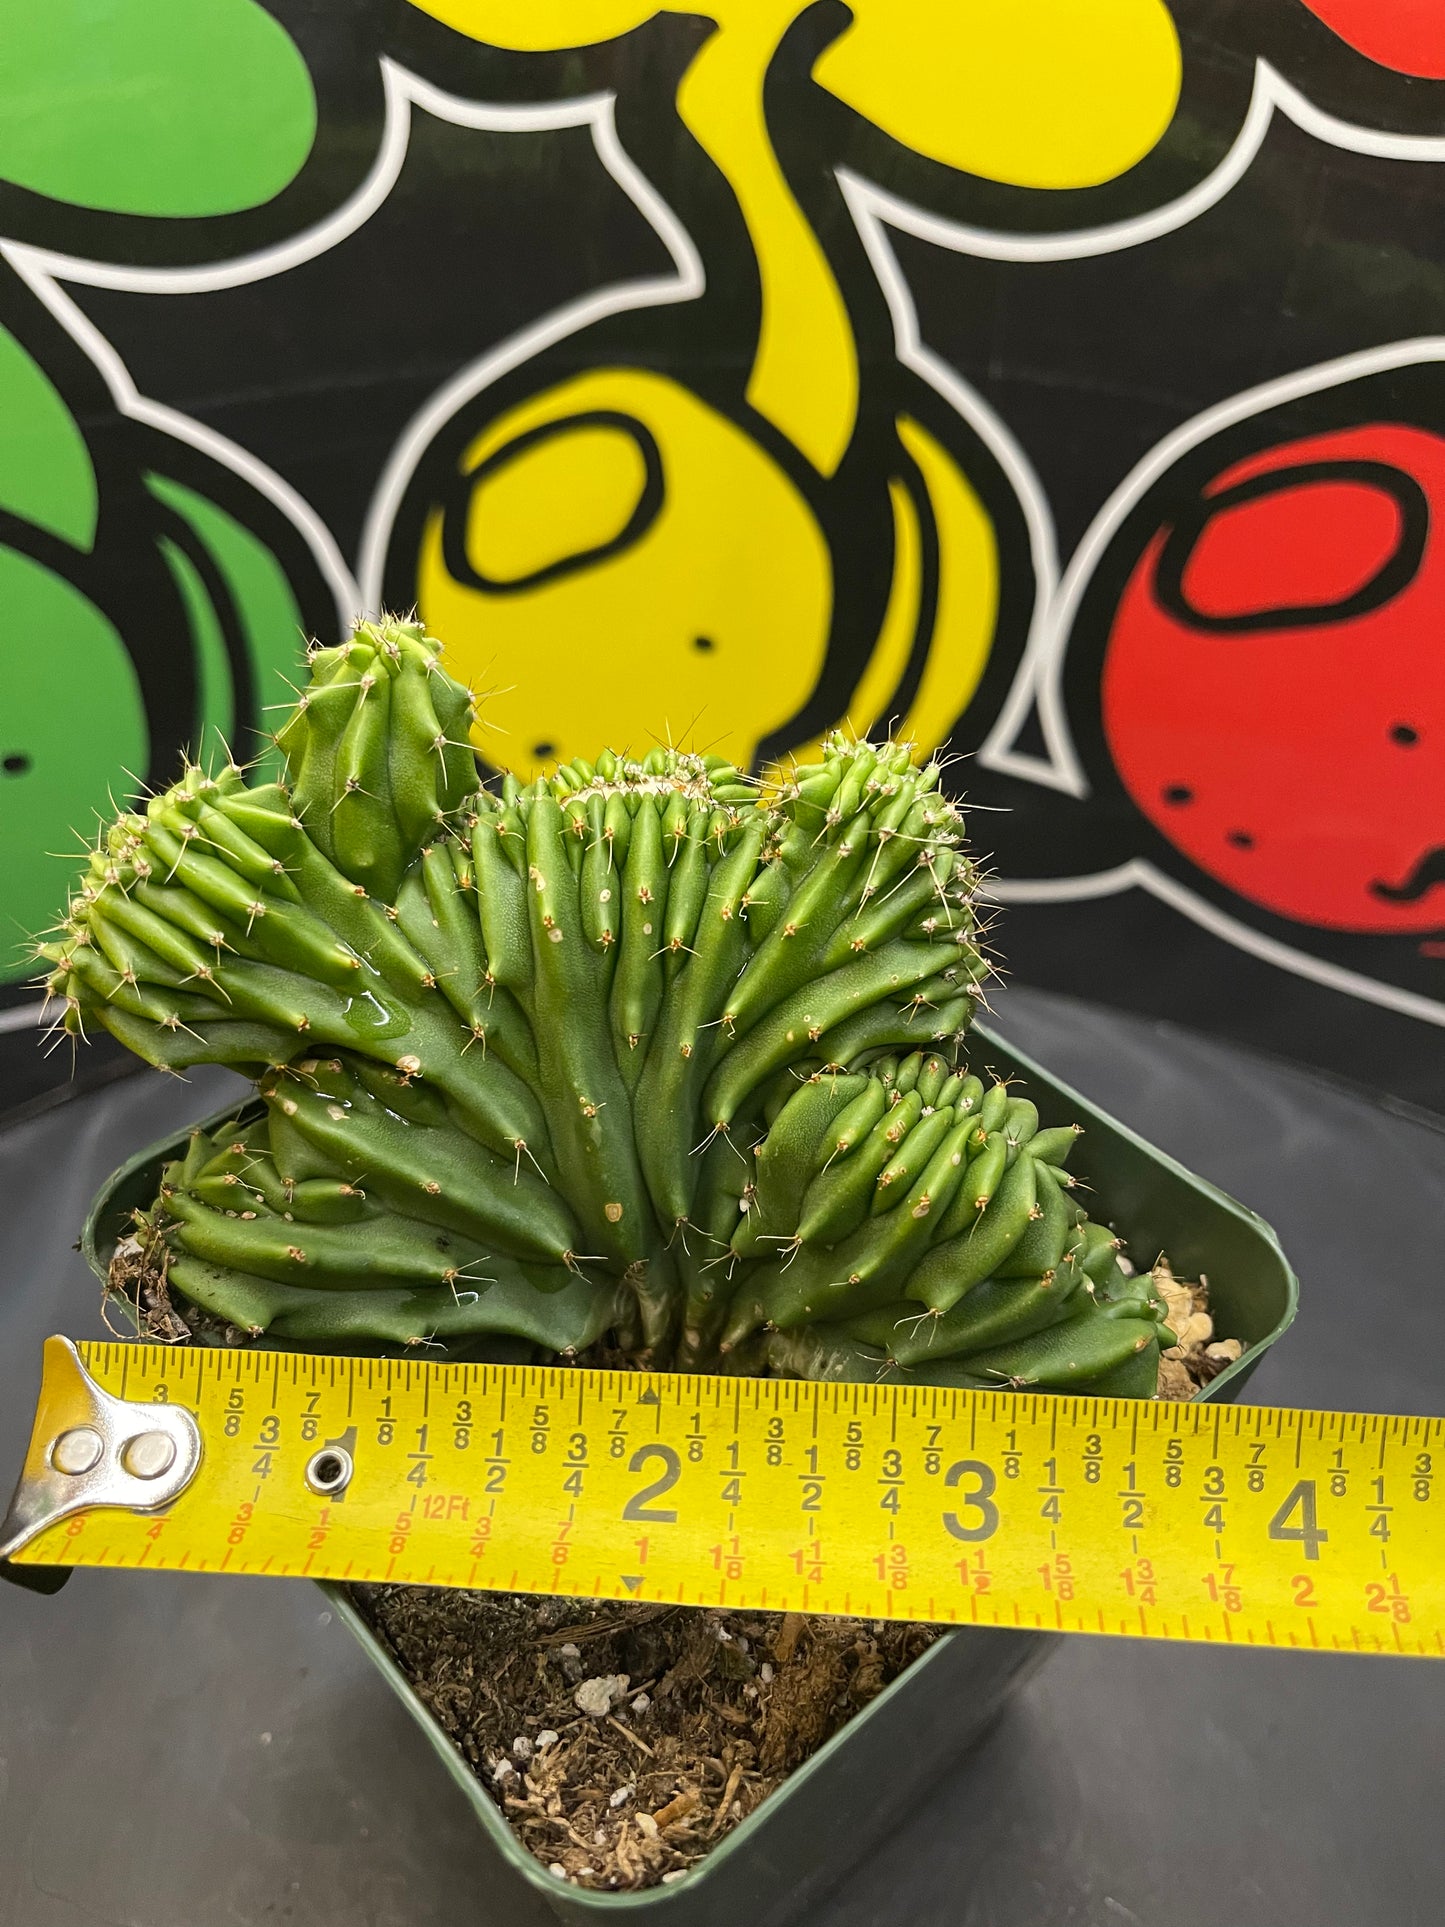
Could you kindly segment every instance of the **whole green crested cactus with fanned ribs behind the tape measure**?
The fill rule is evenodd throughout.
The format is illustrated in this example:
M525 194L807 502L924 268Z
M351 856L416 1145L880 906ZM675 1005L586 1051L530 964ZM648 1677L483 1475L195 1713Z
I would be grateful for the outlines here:
M389 619L316 649L289 780L185 769L44 950L66 1029L264 1098L166 1170L171 1291L306 1349L1150 1395L1171 1333L1075 1129L967 1068L938 765L480 786L437 657Z

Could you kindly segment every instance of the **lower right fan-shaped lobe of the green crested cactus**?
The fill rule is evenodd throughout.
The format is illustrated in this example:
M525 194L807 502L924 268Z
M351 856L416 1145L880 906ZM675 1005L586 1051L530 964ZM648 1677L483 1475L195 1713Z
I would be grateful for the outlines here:
M828 1378L902 1366L923 1384L1152 1393L1164 1301L1073 1201L1075 1137L1040 1145L1033 1104L936 1056L886 1081L817 1073L757 1148L732 1251L771 1256L746 1268L722 1353L765 1332L771 1364Z

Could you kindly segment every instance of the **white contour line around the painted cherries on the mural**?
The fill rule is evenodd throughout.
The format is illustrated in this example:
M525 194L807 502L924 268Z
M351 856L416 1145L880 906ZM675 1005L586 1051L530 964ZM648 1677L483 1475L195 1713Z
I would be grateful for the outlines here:
M622 148L611 92L590 94L566 102L541 106L499 106L489 102L464 100L449 94L428 81L418 79L391 60L381 60L381 79L385 96L385 123L376 160L360 187L333 210L326 220L308 227L301 235L260 249L254 254L227 262L197 268L127 268L106 262L83 260L58 254L27 243L0 243L0 252L21 274L35 295L54 314L62 328L91 356L106 380L116 407L121 414L143 420L164 434L175 436L198 447L214 461L235 470L252 488L270 497L287 518L308 540L318 565L322 567L335 597L337 613L347 622L358 609L376 607L380 601L381 576L385 567L385 547L391 536L401 497L410 482L416 462L430 447L439 426L449 420L459 407L482 393L509 370L588 328L603 316L628 312L634 308L657 306L697 299L703 293L703 262L692 235L678 216L669 208L653 183L638 170ZM191 420L175 409L143 397L104 335L91 324L81 308L66 295L58 281L73 285L110 287L146 295L185 295L210 293L225 287L239 287L270 276L285 274L306 260L333 249L351 233L362 227L370 216L385 202L405 166L412 108L451 121L460 127L484 131L543 131L561 127L591 127L591 139L607 173L622 193L634 202L647 224L663 241L672 258L674 274L651 279L634 279L597 289L574 303L568 303L538 322L511 335L489 349L484 356L462 368L447 382L424 409L407 424L397 445L387 459L378 480L366 516L360 543L356 576L347 568L345 559L326 524L310 505L264 462L247 449L218 436L214 430ZM1256 62L1254 89L1245 121L1223 160L1198 181L1187 195L1156 208L1150 214L1125 222L1106 224L1092 229L1054 235L1008 235L983 227L950 222L933 216L915 204L875 187L850 170L836 170L840 189L848 200L850 214L857 225L873 272L888 303L896 355L904 366L919 374L988 445L1004 472L1008 474L1019 499L1029 545L1033 555L1037 597L1029 638L1013 678L1010 696L988 732L979 759L992 769L1017 775L1025 780L1044 784L1065 794L1085 798L1087 779L1073 748L1067 713L1062 700L1060 671L1067 649L1067 636L1083 590L1092 568L1108 545L1117 524L1129 513L1139 495L1152 480L1168 468L1179 453L1212 436L1218 428L1248 414L1260 412L1295 395L1329 387L1353 380L1376 368L1406 366L1416 360L1445 360L1445 339L1422 339L1412 343L1391 343L1379 349L1347 355L1339 360L1302 370L1245 393L1231 395L1212 409L1202 410L1191 422L1181 424L1166 436L1133 468L1133 472L1114 489L1104 507L1090 522L1085 538L1060 576L1056 530L1052 507L1035 474L1027 455L1015 441L1006 422L988 407L956 368L936 356L921 339L917 308L911 291L898 268L896 254L886 237L886 229L911 233L917 239L954 252L975 254L990 260L1012 262L1050 262L1077 260L1090 254L1108 254L1119 249L1146 245L1171 233L1198 214L1216 206L1248 172L1252 160L1270 131L1274 112L1279 110L1289 121L1327 146L1381 160L1445 162L1445 137L1389 135L1354 127L1331 114L1314 108L1295 87L1289 85L1268 62ZM1038 715L1048 759L1033 757L1015 748L1017 734L1029 713ZM1245 950L1266 964L1287 969L1299 977L1312 979L1333 990L1358 996L1364 1002L1397 1010L1426 1023L1445 1025L1445 1004L1420 996L1393 985L1378 983L1356 971L1341 969L1333 964L1293 950L1275 938L1264 937L1247 923L1237 921L1196 896L1185 884L1164 875L1144 859L1133 859L1112 871L1089 877L1058 879L994 879L990 892L1000 902L1069 902L1098 896L1112 896L1129 888L1144 888L1169 904L1181 915L1222 937L1225 942ZM6 1014L15 1021L19 1012Z

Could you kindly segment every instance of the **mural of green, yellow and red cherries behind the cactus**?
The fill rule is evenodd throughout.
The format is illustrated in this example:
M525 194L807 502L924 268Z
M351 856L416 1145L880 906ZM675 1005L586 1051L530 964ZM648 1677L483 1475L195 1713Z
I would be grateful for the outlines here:
M8 1044L96 813L416 603L497 767L894 723L1017 977L1445 1108L1433 0L0 35Z

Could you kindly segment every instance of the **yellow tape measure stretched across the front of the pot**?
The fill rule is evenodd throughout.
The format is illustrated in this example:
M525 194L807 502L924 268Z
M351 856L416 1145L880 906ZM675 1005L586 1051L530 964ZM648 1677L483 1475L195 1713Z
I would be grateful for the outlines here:
M1445 1657L1439 1418L67 1339L44 1364L0 1526L25 1565Z

